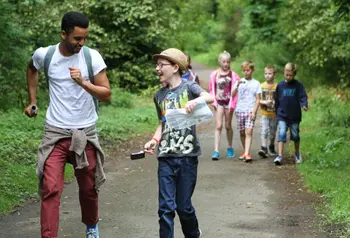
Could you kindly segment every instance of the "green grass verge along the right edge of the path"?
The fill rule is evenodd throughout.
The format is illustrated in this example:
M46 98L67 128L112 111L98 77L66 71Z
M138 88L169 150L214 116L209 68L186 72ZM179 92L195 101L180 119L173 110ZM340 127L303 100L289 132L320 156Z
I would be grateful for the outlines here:
M350 105L349 90L317 88L310 110L303 114L298 170L313 192L326 198L320 209L328 222L350 230ZM348 232L345 237L350 237Z

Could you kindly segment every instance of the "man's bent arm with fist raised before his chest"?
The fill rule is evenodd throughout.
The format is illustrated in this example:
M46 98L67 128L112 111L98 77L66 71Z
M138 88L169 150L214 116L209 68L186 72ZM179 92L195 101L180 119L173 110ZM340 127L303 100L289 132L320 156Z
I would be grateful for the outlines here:
M80 69L69 68L71 77L82 88L84 88L92 96L96 97L99 101L109 101L111 99L111 88L109 86L109 80L105 70L101 70L94 76L94 83L83 80Z

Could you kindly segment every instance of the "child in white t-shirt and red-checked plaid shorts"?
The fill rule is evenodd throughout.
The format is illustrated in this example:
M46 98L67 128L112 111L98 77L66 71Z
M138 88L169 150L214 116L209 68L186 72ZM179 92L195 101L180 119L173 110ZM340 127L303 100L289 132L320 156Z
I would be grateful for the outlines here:
M243 153L239 156L240 160L252 162L250 147L252 144L253 128L255 124L256 113L259 108L261 88L260 83L252 78L254 64L252 61L245 61L241 65L244 78L237 81L234 85L232 95L238 95L236 106L237 129L240 133L243 146Z

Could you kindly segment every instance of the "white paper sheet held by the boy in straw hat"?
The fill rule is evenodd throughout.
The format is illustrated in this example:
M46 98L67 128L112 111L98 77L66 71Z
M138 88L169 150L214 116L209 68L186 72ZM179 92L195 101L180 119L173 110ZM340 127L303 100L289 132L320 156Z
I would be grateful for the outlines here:
M205 100L199 100L192 113L187 114L184 108L167 109L165 118L172 129L184 129L208 121L213 117Z

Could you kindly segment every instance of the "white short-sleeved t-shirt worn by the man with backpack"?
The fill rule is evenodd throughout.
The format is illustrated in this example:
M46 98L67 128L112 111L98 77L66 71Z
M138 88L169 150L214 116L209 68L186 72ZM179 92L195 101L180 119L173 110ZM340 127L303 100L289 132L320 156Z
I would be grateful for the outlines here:
M46 123L65 129L92 126L98 116L93 97L70 77L68 67L81 70L85 81L90 81L83 50L71 56L63 56L57 44L48 69L50 104L46 112ZM49 47L34 52L33 65L37 70L44 68L44 59ZM98 51L90 49L94 76L107 66Z

